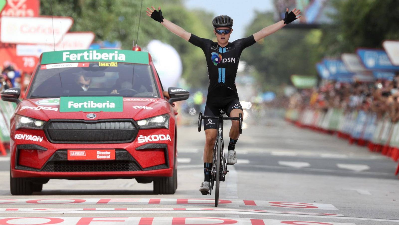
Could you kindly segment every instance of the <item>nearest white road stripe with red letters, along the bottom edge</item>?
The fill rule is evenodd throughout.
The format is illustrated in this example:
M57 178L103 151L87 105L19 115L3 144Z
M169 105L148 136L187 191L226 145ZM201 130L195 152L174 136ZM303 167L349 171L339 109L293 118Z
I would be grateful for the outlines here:
M0 225L356 225L276 219L217 218L217 217L0 217Z

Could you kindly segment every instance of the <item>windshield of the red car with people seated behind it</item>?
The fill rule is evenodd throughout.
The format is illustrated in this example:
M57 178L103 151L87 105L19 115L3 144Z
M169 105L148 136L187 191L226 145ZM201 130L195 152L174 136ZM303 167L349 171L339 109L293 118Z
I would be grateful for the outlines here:
M124 96L158 98L149 65L85 62L41 65L28 98Z

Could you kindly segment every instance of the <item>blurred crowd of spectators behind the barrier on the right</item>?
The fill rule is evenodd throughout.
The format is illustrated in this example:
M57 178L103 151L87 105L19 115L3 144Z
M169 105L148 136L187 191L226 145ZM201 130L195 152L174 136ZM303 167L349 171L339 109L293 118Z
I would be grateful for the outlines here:
M387 115L393 122L399 120L399 72L392 80L342 83L324 81L314 89L304 89L290 97L288 108L327 111L339 108L345 112L363 110L374 112L378 118Z

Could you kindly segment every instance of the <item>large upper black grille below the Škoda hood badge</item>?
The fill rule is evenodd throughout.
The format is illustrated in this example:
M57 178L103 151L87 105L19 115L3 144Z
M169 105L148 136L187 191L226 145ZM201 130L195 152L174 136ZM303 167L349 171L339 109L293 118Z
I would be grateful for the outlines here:
M133 120L50 121L44 128L53 143L127 143L138 133Z

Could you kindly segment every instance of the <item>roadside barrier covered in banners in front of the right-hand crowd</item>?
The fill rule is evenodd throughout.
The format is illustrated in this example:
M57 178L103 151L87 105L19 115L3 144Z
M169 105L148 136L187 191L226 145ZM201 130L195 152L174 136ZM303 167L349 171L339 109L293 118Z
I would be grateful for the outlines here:
M393 161L399 161L399 121L393 123L388 114L377 118L376 113L362 110L344 112L341 109L325 110L288 109L287 121L298 127L322 133L337 134L350 144L367 146L370 151L380 152ZM399 173L399 163L395 175Z

